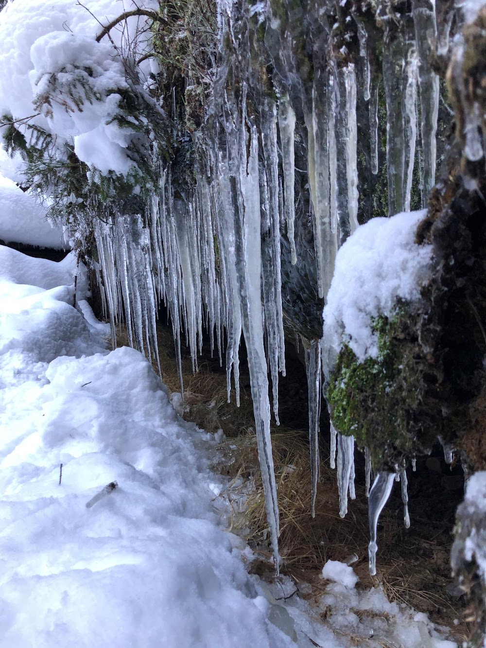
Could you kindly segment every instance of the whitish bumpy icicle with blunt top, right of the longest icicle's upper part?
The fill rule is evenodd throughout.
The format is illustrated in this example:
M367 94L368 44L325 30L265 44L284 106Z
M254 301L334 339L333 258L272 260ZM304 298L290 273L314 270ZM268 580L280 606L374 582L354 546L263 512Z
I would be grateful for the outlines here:
M284 176L285 216L287 223L287 236L290 241L292 264L297 263L294 240L295 221L295 112L288 95L279 100L279 132L282 146L282 167Z

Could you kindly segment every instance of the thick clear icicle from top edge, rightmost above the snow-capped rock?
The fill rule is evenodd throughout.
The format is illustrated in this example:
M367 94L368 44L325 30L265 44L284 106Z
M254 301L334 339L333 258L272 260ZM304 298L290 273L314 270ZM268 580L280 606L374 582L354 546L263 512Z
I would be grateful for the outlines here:
M415 41L419 55L419 85L423 154L422 203L435 183L437 115L439 113L439 77L432 69L432 55L437 47L435 0L412 0Z

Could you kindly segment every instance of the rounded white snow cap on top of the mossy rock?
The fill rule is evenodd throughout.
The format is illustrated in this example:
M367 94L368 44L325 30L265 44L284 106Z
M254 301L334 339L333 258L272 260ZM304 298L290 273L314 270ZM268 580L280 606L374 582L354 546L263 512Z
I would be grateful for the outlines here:
M328 372L343 345L358 362L377 358L373 319L391 315L397 299L419 299L432 259L432 246L415 244L415 230L425 214L423 210L373 218L340 248L323 310Z

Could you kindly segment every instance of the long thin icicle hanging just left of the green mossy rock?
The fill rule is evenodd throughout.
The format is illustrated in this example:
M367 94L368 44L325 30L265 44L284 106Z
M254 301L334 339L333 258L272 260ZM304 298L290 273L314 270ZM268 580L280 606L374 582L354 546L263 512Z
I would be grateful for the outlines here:
M312 485L310 511L314 518L319 480L319 416L321 414L321 349L318 340L312 340L308 349L305 349L305 367L309 410L310 483Z

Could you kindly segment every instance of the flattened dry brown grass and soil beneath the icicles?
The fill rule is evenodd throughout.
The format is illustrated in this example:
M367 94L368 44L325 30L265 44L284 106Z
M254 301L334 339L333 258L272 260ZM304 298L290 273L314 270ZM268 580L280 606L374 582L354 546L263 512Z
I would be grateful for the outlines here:
M179 378L172 334L159 327L159 355L162 377L169 391L179 391ZM119 343L123 343L121 334ZM219 447L214 469L230 478L222 494L231 502L231 530L242 536L259 556L251 569L272 577L268 527L258 452L253 432L253 404L249 394L248 373L242 363L241 405L226 402L226 372L218 361L205 356L192 374L189 354L183 353L183 378L186 411L184 418L209 432L222 429L226 439ZM380 518L377 575L368 570L368 510L364 478L358 460L356 500L349 502L348 514L339 516L336 471L329 468L329 450L321 448L321 475L316 500L316 516L310 515L310 460L307 430L272 428L273 461L277 480L281 536L279 548L284 559L283 572L295 583L311 588L307 598L319 596L325 583L319 578L328 560L347 561L355 553L353 568L362 588L381 585L389 600L405 603L425 612L435 622L452 628L456 640L469 634L463 622L462 599L446 593L450 583L449 551L451 526L430 519L411 502L411 528L404 529L402 503L391 498ZM459 625L454 626L454 619Z

